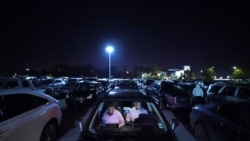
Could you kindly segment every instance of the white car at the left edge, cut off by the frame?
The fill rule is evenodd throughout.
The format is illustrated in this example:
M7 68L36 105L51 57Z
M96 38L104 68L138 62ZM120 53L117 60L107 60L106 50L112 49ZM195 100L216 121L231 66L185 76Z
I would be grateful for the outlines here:
M1 141L52 141L61 119L59 101L42 89L0 91Z

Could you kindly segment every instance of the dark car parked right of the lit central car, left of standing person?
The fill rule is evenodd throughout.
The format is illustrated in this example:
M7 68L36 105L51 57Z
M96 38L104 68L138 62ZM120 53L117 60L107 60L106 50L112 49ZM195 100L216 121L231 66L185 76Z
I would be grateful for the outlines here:
M147 91L160 108L177 110L180 108L191 108L191 96L188 91L174 81L160 80L151 84Z

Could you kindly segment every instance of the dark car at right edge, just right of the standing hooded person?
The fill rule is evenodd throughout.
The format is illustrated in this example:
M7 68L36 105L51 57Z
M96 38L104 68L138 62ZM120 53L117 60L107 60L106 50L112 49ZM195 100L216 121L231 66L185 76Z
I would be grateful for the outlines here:
M208 101L229 100L236 103L250 103L250 86L227 84L222 86L217 93L208 95L207 99Z

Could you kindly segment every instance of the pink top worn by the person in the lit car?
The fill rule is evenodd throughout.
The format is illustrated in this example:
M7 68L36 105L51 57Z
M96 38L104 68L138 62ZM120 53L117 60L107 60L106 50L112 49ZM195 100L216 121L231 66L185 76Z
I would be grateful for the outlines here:
M125 120L124 120L122 114L118 110L115 109L114 113L112 115L109 115L107 113L107 111L103 114L102 123L103 124L113 123L113 124L124 125Z

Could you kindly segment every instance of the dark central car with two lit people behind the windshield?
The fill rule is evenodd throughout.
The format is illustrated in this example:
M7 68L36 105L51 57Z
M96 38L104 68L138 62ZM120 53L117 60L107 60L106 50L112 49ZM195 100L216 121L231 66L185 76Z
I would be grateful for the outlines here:
M149 112L148 117L152 120L143 120L146 116L139 116L139 120L145 123L125 124L118 127L116 124L100 124L101 117L107 108L107 103L115 102L116 109L126 116L128 110L133 106L133 102L139 101ZM158 108L156 103L139 90L116 89L107 93L91 110L90 116L86 120L81 120L82 132L79 141L100 141L100 140L131 140L131 141L177 141L174 129L178 126L178 121L172 119L172 124L168 122L165 115Z

